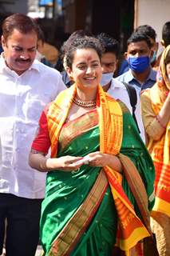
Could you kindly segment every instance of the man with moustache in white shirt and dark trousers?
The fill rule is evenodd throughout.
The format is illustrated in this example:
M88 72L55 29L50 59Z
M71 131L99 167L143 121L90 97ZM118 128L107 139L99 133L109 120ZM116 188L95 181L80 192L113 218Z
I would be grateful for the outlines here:
M28 165L44 106L65 89L57 70L35 60L38 26L24 14L2 24L0 57L0 254L34 256L45 192L45 174Z

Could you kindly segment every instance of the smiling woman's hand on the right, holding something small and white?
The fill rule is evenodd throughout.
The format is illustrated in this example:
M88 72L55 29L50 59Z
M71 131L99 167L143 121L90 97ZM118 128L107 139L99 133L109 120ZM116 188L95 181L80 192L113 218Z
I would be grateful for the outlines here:
M118 172L121 172L121 161L113 154L104 154L100 151L87 155L89 157L89 166L109 166Z

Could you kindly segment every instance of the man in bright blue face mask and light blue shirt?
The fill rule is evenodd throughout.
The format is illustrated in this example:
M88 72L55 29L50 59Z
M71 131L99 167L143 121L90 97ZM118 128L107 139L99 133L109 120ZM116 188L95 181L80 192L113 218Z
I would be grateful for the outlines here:
M129 70L121 74L117 80L127 82L140 91L150 88L156 82L156 71L152 70L150 64L151 42L146 34L135 31L128 38L128 48L125 52L125 58L128 61Z

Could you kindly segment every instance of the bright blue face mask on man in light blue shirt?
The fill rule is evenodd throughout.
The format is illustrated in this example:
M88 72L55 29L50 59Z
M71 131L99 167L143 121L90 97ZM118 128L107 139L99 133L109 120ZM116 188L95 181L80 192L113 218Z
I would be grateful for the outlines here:
M142 73L144 70L147 70L150 66L150 58L148 56L142 57L129 57L128 66L131 70Z

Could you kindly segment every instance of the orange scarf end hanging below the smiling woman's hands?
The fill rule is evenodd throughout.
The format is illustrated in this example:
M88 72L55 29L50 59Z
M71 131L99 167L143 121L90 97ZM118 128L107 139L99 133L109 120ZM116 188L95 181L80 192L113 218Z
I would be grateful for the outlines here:
M149 231L141 222L140 218L136 216L129 202L121 183L117 181L115 172L108 166L105 167L109 185L113 193L113 198L118 215L118 230L117 230L117 246L121 250L125 250L126 255L129 255L130 250L141 239L149 236Z

